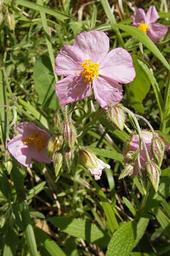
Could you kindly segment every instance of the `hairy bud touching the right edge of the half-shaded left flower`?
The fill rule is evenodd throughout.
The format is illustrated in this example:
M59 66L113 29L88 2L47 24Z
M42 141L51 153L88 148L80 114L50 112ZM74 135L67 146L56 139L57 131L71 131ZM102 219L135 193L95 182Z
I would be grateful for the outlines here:
M56 151L60 150L62 147L63 138L61 134L54 134L48 142L48 152L49 156L52 156Z

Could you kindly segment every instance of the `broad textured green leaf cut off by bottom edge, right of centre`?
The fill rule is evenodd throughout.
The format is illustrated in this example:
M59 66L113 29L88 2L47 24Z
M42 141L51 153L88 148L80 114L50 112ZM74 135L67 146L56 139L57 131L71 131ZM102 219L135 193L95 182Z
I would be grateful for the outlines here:
M106 256L129 256L136 237L135 222L128 221L113 233Z

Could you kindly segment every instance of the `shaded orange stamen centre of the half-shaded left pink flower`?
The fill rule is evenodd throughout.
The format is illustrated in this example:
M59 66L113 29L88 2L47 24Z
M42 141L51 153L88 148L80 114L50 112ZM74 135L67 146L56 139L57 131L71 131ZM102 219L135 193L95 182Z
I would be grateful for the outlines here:
M28 138L23 140L25 145L35 146L37 150L42 150L42 148L46 147L47 138L45 134L34 134L33 136L29 136Z

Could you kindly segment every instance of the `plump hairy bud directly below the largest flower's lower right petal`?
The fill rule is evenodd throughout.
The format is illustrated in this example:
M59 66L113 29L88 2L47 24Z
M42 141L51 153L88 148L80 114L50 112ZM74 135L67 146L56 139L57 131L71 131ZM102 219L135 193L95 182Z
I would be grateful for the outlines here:
M116 127L121 131L124 130L125 114L124 110L121 108L121 105L110 105L107 113L108 118L113 123L113 125L116 125Z

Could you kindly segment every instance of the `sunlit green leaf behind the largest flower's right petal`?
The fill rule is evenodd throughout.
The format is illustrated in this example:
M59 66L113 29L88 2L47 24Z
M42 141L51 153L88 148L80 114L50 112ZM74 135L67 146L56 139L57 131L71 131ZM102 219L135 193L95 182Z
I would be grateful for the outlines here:
M150 90L150 81L138 63L138 56L133 55L133 64L136 72L135 79L126 86L130 105L140 113L144 113L142 101ZM142 59L141 59L142 60Z

